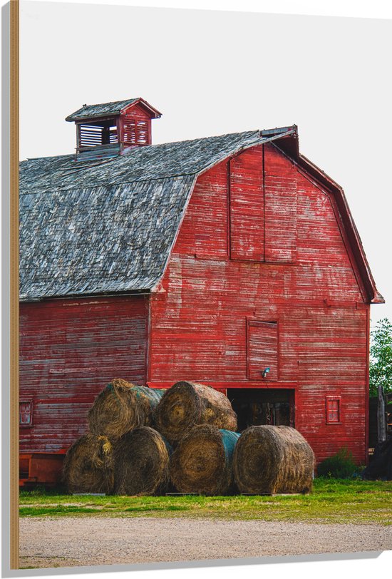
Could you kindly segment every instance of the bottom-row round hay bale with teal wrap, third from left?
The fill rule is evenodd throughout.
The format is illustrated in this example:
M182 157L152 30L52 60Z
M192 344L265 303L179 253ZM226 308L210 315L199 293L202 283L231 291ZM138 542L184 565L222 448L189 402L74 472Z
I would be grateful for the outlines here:
M178 443L170 461L170 478L180 493L224 495L233 490L232 457L237 432L202 424Z

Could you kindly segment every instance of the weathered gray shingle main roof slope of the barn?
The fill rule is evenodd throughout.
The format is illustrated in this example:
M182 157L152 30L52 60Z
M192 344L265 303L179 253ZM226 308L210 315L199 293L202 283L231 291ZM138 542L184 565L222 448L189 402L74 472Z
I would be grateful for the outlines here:
M163 275L195 178L259 131L21 163L20 296L151 290Z

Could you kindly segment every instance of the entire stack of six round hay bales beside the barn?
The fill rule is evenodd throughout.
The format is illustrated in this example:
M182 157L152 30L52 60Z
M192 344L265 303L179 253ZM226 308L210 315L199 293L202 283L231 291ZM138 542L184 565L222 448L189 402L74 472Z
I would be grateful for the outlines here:
M90 432L68 450L68 490L120 495L311 491L314 454L289 426L242 434L225 394L180 381L165 391L113 380L88 413Z

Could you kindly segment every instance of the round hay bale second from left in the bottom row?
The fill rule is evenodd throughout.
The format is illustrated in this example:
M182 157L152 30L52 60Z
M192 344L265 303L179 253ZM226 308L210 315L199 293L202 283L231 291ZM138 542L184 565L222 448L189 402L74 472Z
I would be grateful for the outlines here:
M164 493L169 483L172 449L150 426L124 434L114 444L115 493L153 495Z

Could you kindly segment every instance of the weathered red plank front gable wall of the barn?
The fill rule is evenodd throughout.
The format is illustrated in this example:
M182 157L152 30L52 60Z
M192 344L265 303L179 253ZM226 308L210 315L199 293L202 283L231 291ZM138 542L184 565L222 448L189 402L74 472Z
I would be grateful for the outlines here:
M197 180L151 298L149 383L292 388L296 428L317 458L348 446L364 461L369 306L334 198L272 144L229 165ZM244 224L255 249L230 259ZM254 364L249 374L249 319L279 325L279 378L255 380ZM331 395L341 396L340 424L326 424Z

